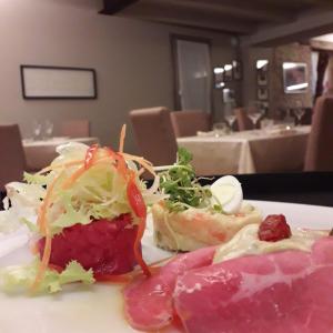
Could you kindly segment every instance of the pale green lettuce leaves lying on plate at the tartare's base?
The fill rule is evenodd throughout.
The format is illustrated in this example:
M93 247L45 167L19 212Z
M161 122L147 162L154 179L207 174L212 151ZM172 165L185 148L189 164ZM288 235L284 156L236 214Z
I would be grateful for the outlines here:
M36 260L28 265L8 266L0 272L0 285L4 292L29 291L34 282L39 261ZM38 293L56 293L62 290L63 284L82 282L84 284L94 283L92 270L85 271L80 263L71 261L67 268L58 273L48 269L44 279L38 287Z

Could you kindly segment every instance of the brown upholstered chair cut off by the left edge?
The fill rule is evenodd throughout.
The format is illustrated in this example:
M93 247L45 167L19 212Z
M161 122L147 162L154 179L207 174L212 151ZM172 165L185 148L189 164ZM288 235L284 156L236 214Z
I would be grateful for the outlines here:
M0 191L12 181L21 181L26 155L18 124L0 125Z

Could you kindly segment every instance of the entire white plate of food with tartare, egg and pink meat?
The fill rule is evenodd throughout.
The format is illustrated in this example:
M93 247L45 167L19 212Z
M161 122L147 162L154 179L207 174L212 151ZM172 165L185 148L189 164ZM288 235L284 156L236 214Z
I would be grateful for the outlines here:
M232 176L201 186L182 151L155 175L123 138L118 152L63 147L8 186L6 332L331 332L332 209L245 202Z

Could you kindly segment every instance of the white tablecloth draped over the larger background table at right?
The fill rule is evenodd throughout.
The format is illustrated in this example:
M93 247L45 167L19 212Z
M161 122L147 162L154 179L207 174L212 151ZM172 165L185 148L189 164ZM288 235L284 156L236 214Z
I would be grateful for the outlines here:
M301 171L311 127L179 138L198 175Z

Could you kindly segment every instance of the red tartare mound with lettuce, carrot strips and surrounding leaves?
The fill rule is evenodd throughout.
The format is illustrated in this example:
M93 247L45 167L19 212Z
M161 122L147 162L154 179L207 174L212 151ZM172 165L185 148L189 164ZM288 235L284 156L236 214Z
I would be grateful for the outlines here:
M147 205L165 195L158 192L152 164L123 152L124 137L125 127L119 151L60 145L49 167L26 173L24 183L8 184L0 230L19 233L28 228L34 260L2 270L4 290L52 293L71 282L112 280L137 264L150 275L141 254ZM140 180L144 171L154 176L149 189Z

